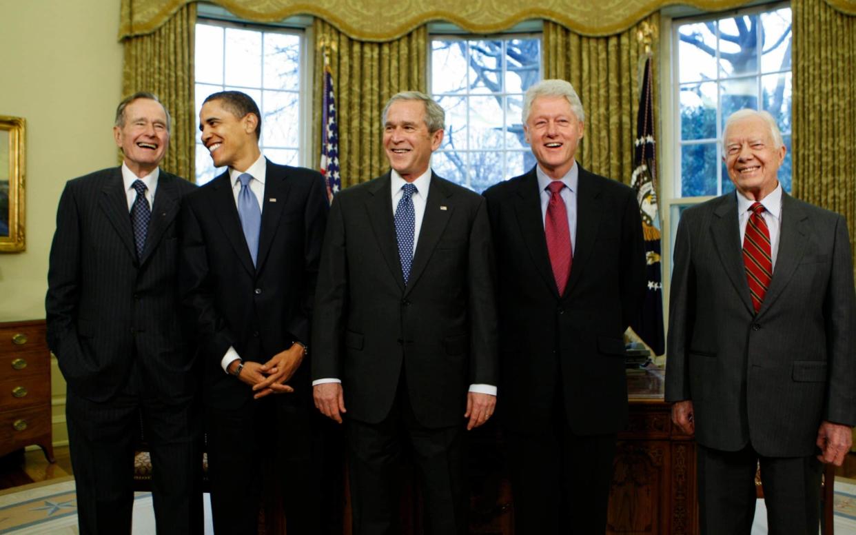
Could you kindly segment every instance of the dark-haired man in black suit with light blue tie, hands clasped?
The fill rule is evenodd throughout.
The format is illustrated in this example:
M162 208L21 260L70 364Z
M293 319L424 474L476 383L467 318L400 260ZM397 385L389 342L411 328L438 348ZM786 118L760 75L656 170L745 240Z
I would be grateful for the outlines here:
M199 128L214 164L229 167L181 211L181 292L203 361L214 529L255 533L261 485L273 482L288 535L316 535L324 419L312 408L306 346L324 181L261 155L259 108L242 92L206 98Z

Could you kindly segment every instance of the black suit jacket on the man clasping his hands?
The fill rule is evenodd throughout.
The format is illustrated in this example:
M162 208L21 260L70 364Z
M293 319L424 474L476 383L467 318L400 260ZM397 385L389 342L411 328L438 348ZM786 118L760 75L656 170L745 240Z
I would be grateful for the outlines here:
M267 162L258 265L247 247L229 173L188 196L181 211L181 294L204 361L205 400L239 407L252 399L245 383L220 366L229 347L266 362L308 342L318 259L327 221L324 180L310 169ZM312 396L307 360L289 384Z

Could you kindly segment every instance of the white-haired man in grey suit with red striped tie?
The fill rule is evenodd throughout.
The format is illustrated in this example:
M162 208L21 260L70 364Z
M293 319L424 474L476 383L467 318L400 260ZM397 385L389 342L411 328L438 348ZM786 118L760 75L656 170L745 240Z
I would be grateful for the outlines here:
M821 461L841 465L856 423L847 223L782 191L769 113L735 112L722 139L737 191L681 215L666 400L698 441L703 533L751 531L758 462L770 532L817 533Z

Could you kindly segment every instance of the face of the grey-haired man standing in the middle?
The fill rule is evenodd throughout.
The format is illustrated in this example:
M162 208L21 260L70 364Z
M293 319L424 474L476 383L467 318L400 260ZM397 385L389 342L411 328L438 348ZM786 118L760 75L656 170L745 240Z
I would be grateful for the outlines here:
M431 163L431 152L443 141L443 130L431 134L425 124L425 103L396 100L386 113L383 148L389 165L406 181L414 181Z

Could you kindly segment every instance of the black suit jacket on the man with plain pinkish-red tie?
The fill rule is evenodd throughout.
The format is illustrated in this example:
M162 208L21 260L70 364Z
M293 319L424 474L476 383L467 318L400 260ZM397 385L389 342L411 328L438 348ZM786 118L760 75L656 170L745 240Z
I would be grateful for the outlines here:
M550 267L535 168L484 192L497 252L501 381L497 412L514 431L550 425L561 385L580 435L627 423L623 333L645 295L645 253L630 187L580 167L568 285Z

